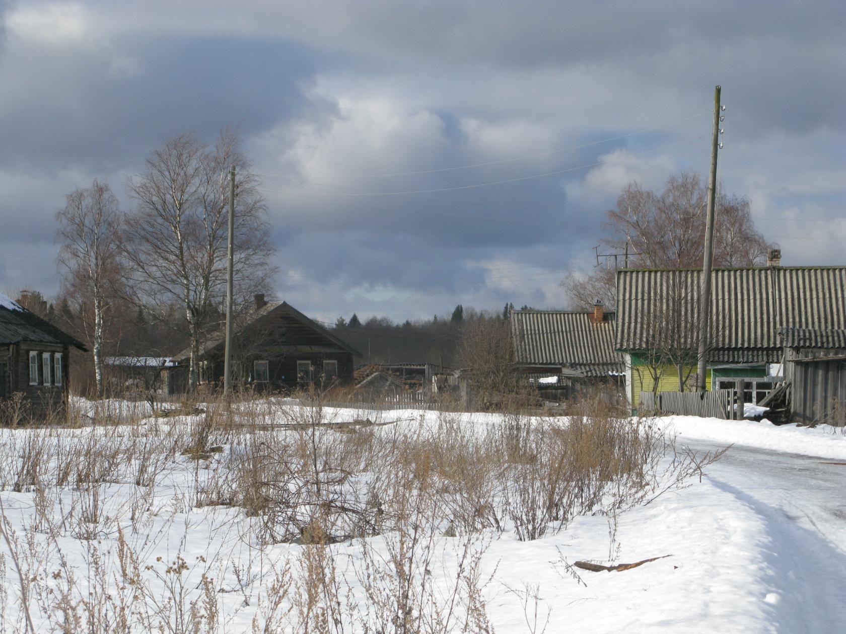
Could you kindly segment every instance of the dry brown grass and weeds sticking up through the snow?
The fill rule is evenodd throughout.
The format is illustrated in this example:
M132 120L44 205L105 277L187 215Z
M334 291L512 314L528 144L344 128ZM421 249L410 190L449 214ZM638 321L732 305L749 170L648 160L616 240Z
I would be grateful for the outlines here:
M713 459L664 460L673 445L650 419L601 397L568 419L518 399L497 418L442 407L395 423L402 412L301 396L308 405L249 394L185 402L166 418L144 404L83 403L76 418L96 425L0 430L0 487L31 495L34 508L23 527L0 509L19 566L0 557L19 579L18 590L0 588L0 607L29 606L54 631L217 632L232 631L238 610L221 602L237 593L252 631L267 634L492 631L492 576L482 573L492 539L543 538L600 514L613 558L619 513L684 486ZM206 506L226 518L224 542L249 556L185 554L190 518ZM179 545L156 560L178 517ZM84 568L69 562L68 540L82 544ZM266 560L283 543L299 547ZM449 574L433 575L443 561ZM541 629L538 589L519 592L527 626ZM25 612L0 626L27 629Z

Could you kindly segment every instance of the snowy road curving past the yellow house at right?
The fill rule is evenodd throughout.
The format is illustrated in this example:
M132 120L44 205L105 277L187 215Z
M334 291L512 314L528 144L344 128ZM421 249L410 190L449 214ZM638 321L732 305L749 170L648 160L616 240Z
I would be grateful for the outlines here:
M697 450L719 447L705 441ZM841 462L841 464L837 464ZM844 631L846 624L846 464L735 445L707 469L712 484L766 522L772 569L767 595L779 631Z

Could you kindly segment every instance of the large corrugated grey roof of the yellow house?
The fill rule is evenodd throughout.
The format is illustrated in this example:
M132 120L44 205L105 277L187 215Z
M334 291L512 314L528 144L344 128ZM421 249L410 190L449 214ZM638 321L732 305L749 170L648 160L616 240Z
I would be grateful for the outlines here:
M667 331L695 347L700 271L618 271L618 350L645 350ZM846 329L846 266L715 269L712 360L759 360L781 347L785 326ZM671 329L667 329L672 325ZM748 351L748 352L742 352ZM769 360L761 358L760 360Z

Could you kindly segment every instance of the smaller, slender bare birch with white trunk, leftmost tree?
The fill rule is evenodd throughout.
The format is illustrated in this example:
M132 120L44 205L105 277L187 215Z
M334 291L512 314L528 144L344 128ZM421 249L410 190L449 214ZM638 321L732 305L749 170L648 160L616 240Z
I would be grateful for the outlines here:
M87 189L65 196L58 210L58 261L67 272L67 296L79 304L82 328L94 357L97 397L102 398L103 340L107 311L115 293L119 269L120 209L107 183L94 180ZM86 308L90 307L90 310ZM87 319L87 315L91 319Z

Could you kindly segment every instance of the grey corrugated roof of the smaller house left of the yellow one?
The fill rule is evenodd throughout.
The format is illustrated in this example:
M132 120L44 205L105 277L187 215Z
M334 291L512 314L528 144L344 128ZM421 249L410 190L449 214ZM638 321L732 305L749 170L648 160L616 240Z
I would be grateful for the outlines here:
M601 323L592 317L592 312L514 310L517 363L563 365L586 376L623 372L623 356L614 352L614 314L606 313Z

